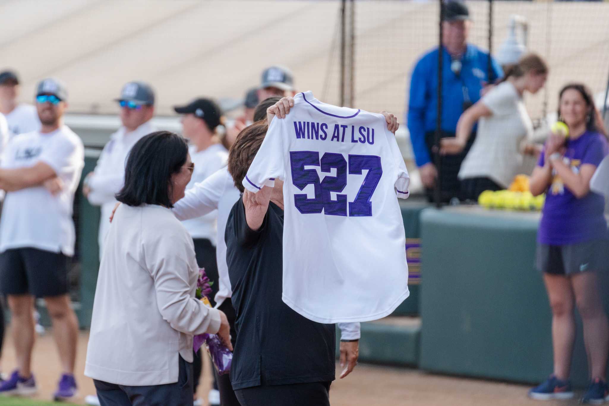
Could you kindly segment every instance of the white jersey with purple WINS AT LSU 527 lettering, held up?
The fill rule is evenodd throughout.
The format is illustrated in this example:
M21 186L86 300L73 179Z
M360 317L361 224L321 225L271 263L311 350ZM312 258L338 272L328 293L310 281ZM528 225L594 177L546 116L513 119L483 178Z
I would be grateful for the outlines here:
M382 114L294 97L273 119L243 186L284 181L283 301L309 320L389 315L409 295L396 195L408 176Z

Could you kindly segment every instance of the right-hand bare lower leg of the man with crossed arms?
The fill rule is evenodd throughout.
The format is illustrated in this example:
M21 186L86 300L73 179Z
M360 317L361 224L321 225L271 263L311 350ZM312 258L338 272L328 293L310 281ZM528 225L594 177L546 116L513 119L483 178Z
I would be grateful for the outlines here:
M70 306L68 295L44 298L51 316L53 338L59 350L63 373L74 374L76 345L78 341L78 320Z

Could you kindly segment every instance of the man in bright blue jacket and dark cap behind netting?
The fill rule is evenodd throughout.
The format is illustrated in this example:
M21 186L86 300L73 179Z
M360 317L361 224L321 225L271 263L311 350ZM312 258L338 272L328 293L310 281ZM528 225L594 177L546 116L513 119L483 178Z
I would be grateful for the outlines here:
M457 121L466 108L476 103L487 83L502 77L501 67L488 53L467 43L470 32L470 12L462 2L449 1L443 10L442 38L442 137L454 137ZM415 159L429 201L434 199L434 187L438 181L435 167L435 129L437 119L438 48L432 49L418 60L412 71L408 105L408 130ZM490 71L490 72L489 72ZM461 162L470 150L475 138L460 155L442 156L440 163L440 190L442 201L459 197L457 179Z

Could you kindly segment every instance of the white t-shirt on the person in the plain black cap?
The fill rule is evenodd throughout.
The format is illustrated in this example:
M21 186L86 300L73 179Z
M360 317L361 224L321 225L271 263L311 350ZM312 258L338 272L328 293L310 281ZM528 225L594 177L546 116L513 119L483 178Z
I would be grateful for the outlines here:
M194 145L189 147L194 172L191 181L186 185L186 191L195 186L196 183L204 181L221 167L226 166L228 151L222 144L214 144L197 152ZM234 201L233 201L234 203ZM217 212L210 212L195 219L182 222L188 233L195 239L208 239L215 246L216 242L216 219ZM222 234L224 240L224 234Z

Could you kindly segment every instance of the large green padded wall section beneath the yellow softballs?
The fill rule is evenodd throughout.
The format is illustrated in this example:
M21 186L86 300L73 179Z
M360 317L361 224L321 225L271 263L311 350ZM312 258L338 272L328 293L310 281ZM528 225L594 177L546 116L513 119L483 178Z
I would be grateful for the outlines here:
M530 383L552 373L551 310L534 266L538 221L479 208L423 211L421 368ZM571 377L583 386L577 324Z

